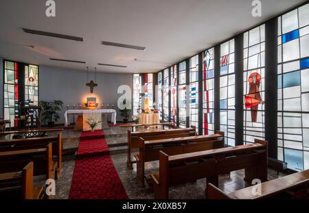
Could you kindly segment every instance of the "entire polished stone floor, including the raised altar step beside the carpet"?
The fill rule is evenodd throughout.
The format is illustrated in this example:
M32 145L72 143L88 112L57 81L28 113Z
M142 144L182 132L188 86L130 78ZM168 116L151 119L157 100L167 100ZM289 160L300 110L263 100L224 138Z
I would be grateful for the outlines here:
M126 143L126 128L113 126L104 129L106 134L106 142L111 144ZM80 132L65 130L63 132L64 148L78 147ZM111 148L111 158L115 164L115 168L119 173L119 177L126 189L129 199L153 199L153 192L150 192L147 184L142 187L136 178L136 166L130 170L126 166L126 146L116 146ZM71 178L75 165L75 157L73 155L65 156L63 159L63 171L60 178L56 181L56 196L53 199L68 199L71 187ZM157 172L159 168L158 161L146 163L146 176L152 172ZM268 179L276 179L284 174L279 173L271 168L268 169ZM249 186L249 183L243 180L244 170L231 172L230 175L220 175L219 188L227 193L239 190ZM41 177L41 180L44 177ZM205 199L205 181L199 179L196 182L186 183L180 186L170 188L170 199ZM39 182L39 179L37 180Z

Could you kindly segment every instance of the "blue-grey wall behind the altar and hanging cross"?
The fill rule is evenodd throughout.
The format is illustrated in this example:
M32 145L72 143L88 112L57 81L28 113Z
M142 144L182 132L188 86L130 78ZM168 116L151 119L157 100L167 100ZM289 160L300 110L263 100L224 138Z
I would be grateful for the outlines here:
M40 100L62 100L64 107L61 112L61 120L64 123L67 105L82 104L83 96L91 96L87 82L87 71L76 71L56 67L40 66L39 68L39 99ZM89 80L95 80L94 73L89 74ZM120 85L133 86L132 74L97 74L98 87L94 93L100 98L99 104L115 104L122 94L117 94ZM117 110L117 121L122 120Z

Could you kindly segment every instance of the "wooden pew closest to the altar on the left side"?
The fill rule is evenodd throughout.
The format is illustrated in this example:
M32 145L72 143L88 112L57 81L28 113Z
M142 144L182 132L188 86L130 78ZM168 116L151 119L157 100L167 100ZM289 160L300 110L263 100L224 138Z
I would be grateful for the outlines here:
M5 151L29 150L45 148L49 143L52 144L52 155L57 157L57 174L59 177L62 171L62 133L57 137L32 137L25 139L0 140L0 153Z

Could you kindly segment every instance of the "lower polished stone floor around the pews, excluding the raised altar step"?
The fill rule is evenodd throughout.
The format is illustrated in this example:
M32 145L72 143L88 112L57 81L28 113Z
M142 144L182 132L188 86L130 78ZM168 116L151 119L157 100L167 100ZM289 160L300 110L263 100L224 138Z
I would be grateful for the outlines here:
M119 177L126 189L129 199L153 199L153 193L150 192L147 184L142 187L141 183L136 178L136 167L133 170L126 167L126 153L118 152L111 154L115 168ZM74 169L74 159L66 157L63 162L61 177L56 181L56 196L53 199L68 199L69 190L71 187L71 178ZM157 172L159 166L158 162L154 161L146 163L146 174ZM268 169L268 179L276 179L284 176L271 168ZM244 170L231 172L230 175L220 175L219 188L227 193L239 190L250 186L249 183L243 180ZM170 199L205 199L205 182L206 179L199 179L193 183L186 183L170 188Z

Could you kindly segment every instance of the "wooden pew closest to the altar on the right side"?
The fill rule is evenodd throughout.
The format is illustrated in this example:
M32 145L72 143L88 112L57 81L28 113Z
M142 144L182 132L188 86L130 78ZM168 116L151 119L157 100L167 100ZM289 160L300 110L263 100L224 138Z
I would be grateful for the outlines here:
M173 137L187 137L196 135L195 128L176 128L167 130L151 130L151 131L140 131L132 132L128 130L128 157L126 164L128 168L133 168L133 164L136 161L132 161L131 151L133 148L139 148L139 137L143 137L146 140L153 139L165 139Z

